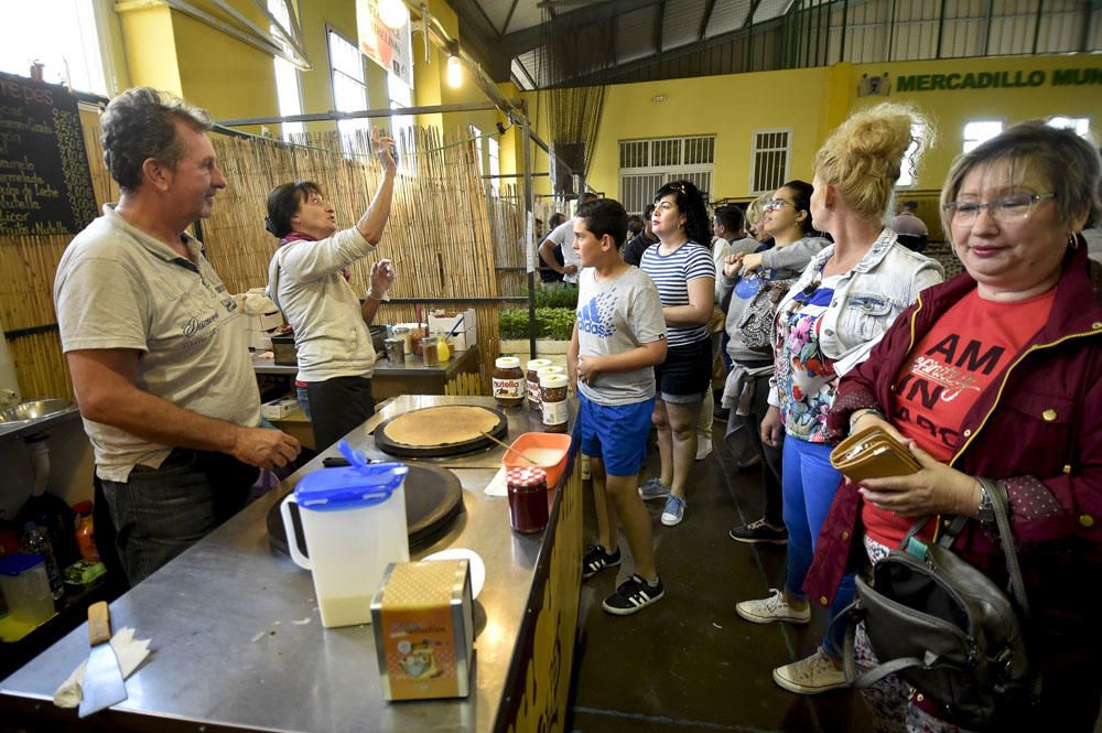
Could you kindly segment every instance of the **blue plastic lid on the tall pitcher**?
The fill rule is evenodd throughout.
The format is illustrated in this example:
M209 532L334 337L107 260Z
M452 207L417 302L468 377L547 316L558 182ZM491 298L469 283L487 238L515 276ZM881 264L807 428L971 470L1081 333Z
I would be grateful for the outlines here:
M345 441L341 441L339 448L352 465L321 468L305 475L294 487L294 498L301 508L339 511L381 504L401 486L409 473L401 463L369 463Z

